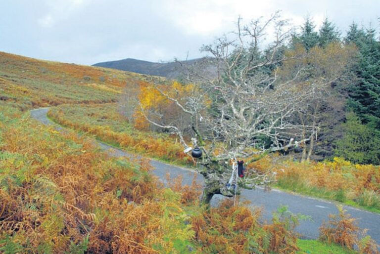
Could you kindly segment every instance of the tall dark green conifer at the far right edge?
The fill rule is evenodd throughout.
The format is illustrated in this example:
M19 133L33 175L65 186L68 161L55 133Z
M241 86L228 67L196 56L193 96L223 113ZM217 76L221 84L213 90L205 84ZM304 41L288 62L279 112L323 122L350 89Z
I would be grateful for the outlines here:
M348 105L357 114L358 121L365 126L365 133L356 134L357 140L366 139L369 143L356 156L364 163L379 164L380 156L376 151L380 149L377 145L380 143L380 42L376 39L374 29L364 31L354 23L347 32L345 42L355 43L359 49L358 64L351 71L356 76L356 81L349 87ZM361 130L364 127L354 128ZM347 141L346 144L354 144L353 136L355 135L346 133L343 140Z

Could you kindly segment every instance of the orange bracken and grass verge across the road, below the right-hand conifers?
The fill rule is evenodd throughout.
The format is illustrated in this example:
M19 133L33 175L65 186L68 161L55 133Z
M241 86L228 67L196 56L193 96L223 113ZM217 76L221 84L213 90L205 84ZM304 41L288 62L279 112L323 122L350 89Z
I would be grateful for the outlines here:
M310 191L307 194L380 209L379 166L351 164L341 158L309 163L284 161L281 157L271 160L268 157L251 167L276 172L277 185L281 188L301 193Z

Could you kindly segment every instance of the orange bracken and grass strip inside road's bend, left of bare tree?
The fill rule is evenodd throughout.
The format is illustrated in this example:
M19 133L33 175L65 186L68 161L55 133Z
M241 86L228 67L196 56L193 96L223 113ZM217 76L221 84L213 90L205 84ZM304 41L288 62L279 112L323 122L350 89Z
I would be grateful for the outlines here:
M123 150L177 165L190 165L175 138L165 133L139 131L131 127L115 103L101 105L60 105L47 113L64 127L94 135L98 140Z

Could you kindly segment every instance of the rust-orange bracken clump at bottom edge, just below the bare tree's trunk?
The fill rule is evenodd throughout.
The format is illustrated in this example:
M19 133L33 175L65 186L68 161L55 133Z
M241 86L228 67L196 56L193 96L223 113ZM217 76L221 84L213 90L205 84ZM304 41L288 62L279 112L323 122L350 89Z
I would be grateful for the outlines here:
M202 253L295 254L296 234L288 229L288 220L265 224L259 218L260 210L225 199L217 208L193 216L191 224Z

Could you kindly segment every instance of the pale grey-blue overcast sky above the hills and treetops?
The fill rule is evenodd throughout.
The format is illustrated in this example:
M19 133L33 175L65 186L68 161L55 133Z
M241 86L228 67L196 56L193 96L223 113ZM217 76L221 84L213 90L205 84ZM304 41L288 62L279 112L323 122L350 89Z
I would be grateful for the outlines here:
M192 59L239 15L276 10L298 26L328 17L343 35L352 21L379 28L379 0L0 0L0 51L85 65Z

